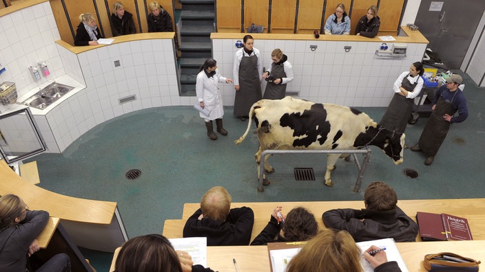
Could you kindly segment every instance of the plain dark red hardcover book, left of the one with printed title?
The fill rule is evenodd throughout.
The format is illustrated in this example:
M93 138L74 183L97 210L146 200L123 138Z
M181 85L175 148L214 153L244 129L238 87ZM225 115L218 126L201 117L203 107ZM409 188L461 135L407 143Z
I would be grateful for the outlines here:
M420 236L423 241L446 241L443 220L440 214L429 212L417 212L417 225L420 228Z

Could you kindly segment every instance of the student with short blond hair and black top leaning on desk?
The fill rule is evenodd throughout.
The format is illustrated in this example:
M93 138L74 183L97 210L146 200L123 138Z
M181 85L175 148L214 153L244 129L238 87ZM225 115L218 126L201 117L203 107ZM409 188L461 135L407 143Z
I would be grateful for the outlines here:
M231 209L231 195L216 186L204 194L200 209L187 219L183 237L207 237L208 246L249 245L253 225L253 210Z

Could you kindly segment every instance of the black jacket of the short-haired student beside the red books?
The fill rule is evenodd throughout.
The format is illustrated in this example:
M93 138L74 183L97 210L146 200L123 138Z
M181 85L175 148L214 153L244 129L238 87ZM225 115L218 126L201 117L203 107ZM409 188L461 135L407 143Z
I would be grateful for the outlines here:
M322 215L331 229L346 230L355 242L393 238L396 242L414 242L417 224L396 207L389 211L370 209L331 209Z

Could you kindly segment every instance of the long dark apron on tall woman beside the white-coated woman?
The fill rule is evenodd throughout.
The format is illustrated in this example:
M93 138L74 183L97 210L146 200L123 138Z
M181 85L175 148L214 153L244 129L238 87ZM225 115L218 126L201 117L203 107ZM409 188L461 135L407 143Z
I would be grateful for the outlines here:
M258 57L243 56L239 64L239 91L234 98L234 115L247 116L251 106L262 99Z

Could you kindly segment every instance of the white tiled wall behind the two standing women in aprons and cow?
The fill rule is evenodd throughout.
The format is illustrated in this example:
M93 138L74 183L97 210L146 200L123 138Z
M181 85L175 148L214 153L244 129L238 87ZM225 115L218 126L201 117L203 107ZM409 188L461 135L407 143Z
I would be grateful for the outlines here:
M213 39L214 59L223 76L232 78L236 40ZM310 45L317 45L311 51ZM271 51L282 49L293 65L294 80L287 92L314 102L345 106L387 106L393 82L411 64L422 60L426 44L407 44L406 58L378 58L375 42L256 40L254 47L262 54L263 66L271 64ZM390 43L388 43L390 45ZM351 46L350 52L344 46ZM263 91L264 91L264 84ZM225 105L234 105L234 87L221 84Z

